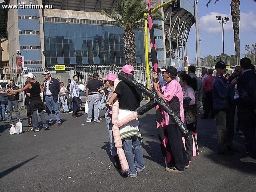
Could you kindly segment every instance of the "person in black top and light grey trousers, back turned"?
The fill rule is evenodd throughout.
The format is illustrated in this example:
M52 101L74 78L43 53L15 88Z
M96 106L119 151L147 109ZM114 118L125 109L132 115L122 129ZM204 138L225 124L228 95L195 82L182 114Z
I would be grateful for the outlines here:
M92 79L86 85L86 101L88 101L88 116L86 122L92 122L92 109L94 108L94 123L99 121L99 104L100 104L100 87L104 86L104 83L98 80L99 74L92 74Z

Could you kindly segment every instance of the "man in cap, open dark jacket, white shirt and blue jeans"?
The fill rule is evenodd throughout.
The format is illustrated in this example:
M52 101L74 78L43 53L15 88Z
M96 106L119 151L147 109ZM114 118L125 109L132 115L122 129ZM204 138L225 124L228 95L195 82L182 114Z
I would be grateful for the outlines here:
M48 114L48 125L52 125L52 107L54 108L55 117L57 120L58 127L61 126L60 119L60 110L58 104L58 97L60 92L60 84L59 82L52 78L51 73L46 71L43 73L45 81L44 81L44 94L45 94L45 102L46 102L46 112Z

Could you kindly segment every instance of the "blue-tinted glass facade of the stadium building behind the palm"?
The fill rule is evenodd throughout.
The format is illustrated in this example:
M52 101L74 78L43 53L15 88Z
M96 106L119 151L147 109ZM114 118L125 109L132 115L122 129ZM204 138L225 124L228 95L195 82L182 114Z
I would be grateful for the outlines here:
M116 65L126 63L122 28L110 25L44 21L46 66ZM144 33L135 31L136 62L145 63Z

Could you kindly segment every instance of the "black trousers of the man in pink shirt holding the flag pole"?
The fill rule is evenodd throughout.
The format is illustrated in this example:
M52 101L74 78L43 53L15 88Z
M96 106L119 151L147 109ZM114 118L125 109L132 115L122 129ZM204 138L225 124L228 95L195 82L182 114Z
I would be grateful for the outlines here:
M172 156L170 167L174 166L177 170L183 171L184 166L188 166L188 158L182 142L182 134L176 125L166 125L166 133Z

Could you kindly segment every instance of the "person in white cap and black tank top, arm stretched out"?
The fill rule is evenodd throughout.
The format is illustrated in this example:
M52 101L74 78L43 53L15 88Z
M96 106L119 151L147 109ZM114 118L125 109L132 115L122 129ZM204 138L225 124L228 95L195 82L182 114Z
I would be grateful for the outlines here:
M30 92L30 103L29 103L29 108L30 108L30 113L31 118L32 118L32 125L33 129L31 131L39 131L38 128L38 118L37 118L37 111L40 115L40 118L42 120L44 130L49 130L48 124L46 124L45 116L44 116L44 104L41 100L40 97L40 92L43 92L44 89L40 86L40 84L35 81L35 76L32 73L24 75L27 78L28 84L24 86L22 89L18 90L12 90L12 92L22 92L27 89L29 89Z

